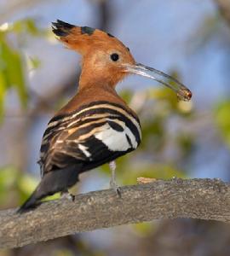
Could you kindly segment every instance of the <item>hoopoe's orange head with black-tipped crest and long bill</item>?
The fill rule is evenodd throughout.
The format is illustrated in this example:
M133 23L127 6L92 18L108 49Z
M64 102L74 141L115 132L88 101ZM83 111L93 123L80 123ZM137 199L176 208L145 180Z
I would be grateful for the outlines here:
M190 100L192 92L176 79L136 63L129 48L118 38L89 26L74 26L61 20L53 22L53 32L67 48L83 56L81 84L108 84L114 87L125 76L135 73L154 79L175 90L182 100ZM166 80L172 80L169 84Z

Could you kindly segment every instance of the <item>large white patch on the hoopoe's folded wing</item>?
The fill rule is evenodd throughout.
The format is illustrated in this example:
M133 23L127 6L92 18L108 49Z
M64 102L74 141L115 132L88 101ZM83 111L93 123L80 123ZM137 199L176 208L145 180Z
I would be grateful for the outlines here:
M126 151L129 148L137 148L133 133L126 125L122 126L124 131L116 131L109 124L103 125L101 131L95 133L95 138L101 140L111 151ZM132 147L129 144L127 136L130 139Z

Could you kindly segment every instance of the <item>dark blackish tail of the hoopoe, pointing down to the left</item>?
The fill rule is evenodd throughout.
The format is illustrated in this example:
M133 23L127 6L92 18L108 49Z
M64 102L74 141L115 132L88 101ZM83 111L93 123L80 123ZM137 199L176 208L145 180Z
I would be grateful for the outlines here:
M32 195L19 208L17 212L23 213L36 208L44 197L54 195L56 192L66 191L78 182L80 166L71 166L65 169L54 170L43 176L43 179Z

